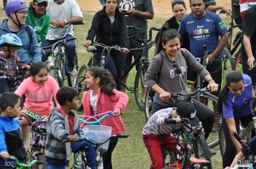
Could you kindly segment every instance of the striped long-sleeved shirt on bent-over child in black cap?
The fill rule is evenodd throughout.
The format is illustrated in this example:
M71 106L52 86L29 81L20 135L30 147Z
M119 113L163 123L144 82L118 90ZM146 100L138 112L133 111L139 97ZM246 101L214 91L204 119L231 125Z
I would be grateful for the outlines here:
M180 127L185 131L186 127L181 123L163 124L163 120L172 115L173 107L155 112L143 127L143 135L168 135L178 130Z

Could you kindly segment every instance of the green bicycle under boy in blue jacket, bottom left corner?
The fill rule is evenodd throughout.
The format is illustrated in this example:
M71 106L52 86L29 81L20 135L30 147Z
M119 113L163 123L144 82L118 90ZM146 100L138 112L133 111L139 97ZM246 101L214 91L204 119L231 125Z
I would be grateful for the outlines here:
M17 169L24 169L24 168L33 168L35 165L42 165L46 164L45 162L42 162L40 160L32 160L30 163L22 163L19 162L17 158L10 155L9 158L6 158L4 166L1 166L1 168L17 168Z

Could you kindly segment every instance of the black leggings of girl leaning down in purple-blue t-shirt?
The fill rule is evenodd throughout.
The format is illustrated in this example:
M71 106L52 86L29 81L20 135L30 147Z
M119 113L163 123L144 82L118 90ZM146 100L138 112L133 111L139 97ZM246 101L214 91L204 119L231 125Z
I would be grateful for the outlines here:
M247 125L252 121L252 115L246 115L244 117L234 117L237 133L239 133L239 125L240 125L239 121L241 121L244 127L247 127ZM234 156L237 154L237 149L231 140L231 137L229 135L229 127L227 126L227 122L226 120L224 120L224 118L222 118L222 127L224 131L225 142L226 142L225 153L222 157L222 165L223 165L223 168L225 168L231 165L232 161L234 160ZM255 133L252 133L252 135L255 135Z

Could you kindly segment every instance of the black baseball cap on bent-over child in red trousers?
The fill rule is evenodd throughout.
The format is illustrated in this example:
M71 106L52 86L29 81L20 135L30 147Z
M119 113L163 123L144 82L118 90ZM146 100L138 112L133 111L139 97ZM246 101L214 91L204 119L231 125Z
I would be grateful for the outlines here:
M178 102L176 111L180 117L192 119L196 116L195 105L193 105L191 102Z

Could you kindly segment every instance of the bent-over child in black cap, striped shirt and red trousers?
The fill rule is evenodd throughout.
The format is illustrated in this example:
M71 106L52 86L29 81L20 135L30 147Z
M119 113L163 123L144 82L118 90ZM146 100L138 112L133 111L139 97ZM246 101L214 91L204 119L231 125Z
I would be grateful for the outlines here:
M186 132L186 127L180 122L181 117L188 117L193 120L196 116L195 105L191 102L179 102L177 107L169 107L158 110L150 117L143 127L143 141L150 155L152 169L163 168L163 155L161 148L167 148L176 152L175 138L170 135L175 130L182 128ZM168 120L175 120L177 123L168 124ZM183 147L183 145L181 145Z

